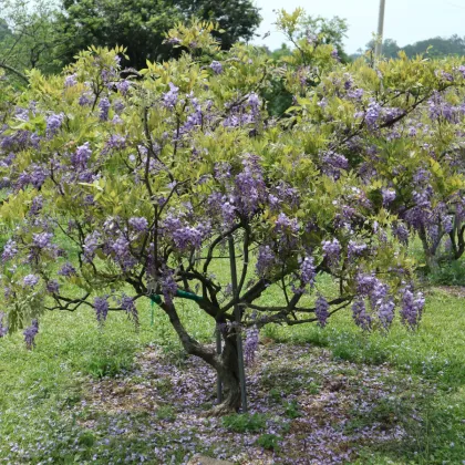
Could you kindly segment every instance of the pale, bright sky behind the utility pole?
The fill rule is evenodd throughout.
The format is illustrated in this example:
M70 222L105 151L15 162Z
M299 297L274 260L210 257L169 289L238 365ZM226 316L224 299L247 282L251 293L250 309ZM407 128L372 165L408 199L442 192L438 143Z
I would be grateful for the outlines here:
M432 37L465 35L465 0L385 0L384 38L403 46ZM302 7L311 16L339 16L349 23L345 51L350 54L372 39L378 29L379 0L255 0L261 9L260 34L254 42L278 49L283 35L272 24L273 10ZM261 37L270 32L265 40Z

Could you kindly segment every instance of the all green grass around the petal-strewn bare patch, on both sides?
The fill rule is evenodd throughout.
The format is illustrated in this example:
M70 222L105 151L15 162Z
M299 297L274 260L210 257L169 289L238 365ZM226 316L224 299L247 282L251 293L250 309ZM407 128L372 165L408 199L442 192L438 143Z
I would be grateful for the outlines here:
M320 287L329 287L329 283L322 282ZM272 301L275 298L271 294L267 299ZM20 333L0 340L0 463L2 459L8 463L11 448L33 451L38 442L44 450L41 453L35 451L34 457L42 461L90 462L95 451L103 446L96 433L86 428L72 413L73 406L81 404L85 397L86 380L124 375L136 368L137 353L147 344L163 345L173 363L183 365L184 354L167 318L157 308L153 311L152 326L149 304L144 302L140 308L142 324L138 332L125 316L114 313L100 330L94 314L85 310L74 314L45 314L34 351L25 350ZM200 341L211 341L213 322L207 321L202 311L183 301L179 313L193 335ZM402 376L411 375L418 386L421 379L426 379L433 386L427 395L416 396L412 391L402 402L395 396L386 399L372 412L370 421L389 422L392 416L401 417L414 440L402 445L380 444L362 448L358 463L462 464L465 459L464 298L453 297L440 289L428 291L421 328L414 333L395 322L388 334L363 334L354 327L348 311L335 314L326 329L270 326L264 334L288 343L310 342L327 348L335 360L371 365L386 363L394 368L394 373L396 370ZM273 396L277 385L280 389L282 385L285 392L306 389L309 395L318 393L318 378L311 386L301 386L296 374L265 373L268 378L264 382L270 391L271 401L279 402L279 393ZM159 389L170 389L162 385L163 380L158 382ZM395 376L389 382L395 385ZM410 399L411 395L416 397ZM289 403L286 409L288 417L298 417L299 405ZM93 413L86 411L85 405L82 412L86 421L92 421ZM423 421L414 422L412 415L421 415ZM172 421L176 413L165 405L159 409L158 416L159 420ZM247 430L248 423L242 425L244 417L232 420L230 427ZM114 418L108 417L108 422L112 421ZM142 424L143 421L143 417L134 417L134 422ZM360 426L366 421L355 411L352 425L348 427ZM167 438L161 435L161 444L163 441ZM73 448L73 444L78 445ZM277 438L266 435L259 444L270 450L278 447ZM112 444L105 447L112 447ZM132 453L144 453L145 445L133 437L127 447ZM72 454L69 452L71 448L74 451ZM34 457L25 459L25 463L37 463L39 459ZM182 459L179 455L176 463Z

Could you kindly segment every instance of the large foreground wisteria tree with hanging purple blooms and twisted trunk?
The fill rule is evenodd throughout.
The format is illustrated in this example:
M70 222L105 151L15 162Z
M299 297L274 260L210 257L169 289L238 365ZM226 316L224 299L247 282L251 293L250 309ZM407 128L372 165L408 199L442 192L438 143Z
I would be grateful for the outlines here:
M296 18L281 21L289 29ZM382 169L392 147L415 138L385 134L464 76L454 61L340 68L333 48L312 38L299 39L283 69L254 48L220 52L213 29L169 31L168 42L192 52L148 63L137 80L121 78L123 49L81 52L62 76L30 74L0 133L1 217L13 231L1 255L0 334L27 327L33 347L45 310L89 307L103 326L110 311L137 321L149 298L186 352L218 372L226 395L215 412L225 413L240 406L238 331L252 330L252 350L268 323L324 327L347 308L364 330L388 330L396 307L416 327L424 299L407 226L386 208L402 176ZM294 95L283 122L258 96L275 73ZM403 156L397 163L415 170L416 158ZM433 166L427 149L417 156ZM463 188L454 176L450 198ZM220 354L189 333L180 299L215 321Z

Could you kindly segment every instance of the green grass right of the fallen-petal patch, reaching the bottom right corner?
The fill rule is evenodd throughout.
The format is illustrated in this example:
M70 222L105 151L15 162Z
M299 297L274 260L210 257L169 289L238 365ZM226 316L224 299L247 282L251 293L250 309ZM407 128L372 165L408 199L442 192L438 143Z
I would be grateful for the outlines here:
M372 418L385 421L390 412L405 417L406 430L416 437L416 443L405 450L370 448L361 464L409 461L462 464L465 459L465 298L450 296L444 290L428 291L425 314L416 332L396 322L386 334L364 334L350 320L345 312L335 314L326 329L276 326L268 327L265 333L278 341L328 348L334 359L374 365L388 363L402 373L432 383L433 393L425 399L413 397L397 405L394 399L380 406L379 417ZM413 410L422 412L422 424L409 417Z

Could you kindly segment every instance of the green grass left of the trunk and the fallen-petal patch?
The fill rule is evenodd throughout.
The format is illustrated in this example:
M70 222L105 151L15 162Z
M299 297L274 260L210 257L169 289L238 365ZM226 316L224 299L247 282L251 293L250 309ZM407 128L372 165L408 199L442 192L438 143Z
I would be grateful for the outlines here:
M188 310L179 310L186 317ZM42 459L84 459L92 452L90 440L85 440L89 432L71 414L72 407L84 399L83 383L90 378L123 375L136 365L137 352L155 342L164 344L174 363L180 360L180 345L167 318L155 308L152 326L149 304L140 311L138 331L120 313L110 314L101 330L94 313L83 310L46 313L33 351L25 349L20 332L0 339L0 463L17 444L19 448L33 450L39 441L46 445L45 454L39 455ZM196 337L210 337L213 328L205 323L200 311L192 309L189 320L200 328L194 331ZM169 417L173 413L165 407L159 415ZM75 441L83 442L81 458L63 457L62 450L68 451ZM31 458L31 463L35 459Z

